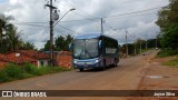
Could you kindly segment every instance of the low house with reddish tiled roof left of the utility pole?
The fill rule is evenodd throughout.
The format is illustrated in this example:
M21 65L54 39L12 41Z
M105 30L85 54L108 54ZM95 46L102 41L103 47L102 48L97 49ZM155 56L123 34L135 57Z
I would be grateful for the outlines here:
M2 60L6 62L12 62L18 64L29 62L29 63L36 64L37 67L43 67L43 66L50 64L49 54L44 54L42 52L34 51L34 50L11 51L9 53L6 53Z

